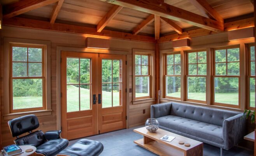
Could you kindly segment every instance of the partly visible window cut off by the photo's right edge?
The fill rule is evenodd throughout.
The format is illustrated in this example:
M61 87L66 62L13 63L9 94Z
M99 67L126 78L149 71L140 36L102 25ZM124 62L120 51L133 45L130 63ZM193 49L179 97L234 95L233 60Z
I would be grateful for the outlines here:
M255 46L249 45L248 51L249 107L255 107Z

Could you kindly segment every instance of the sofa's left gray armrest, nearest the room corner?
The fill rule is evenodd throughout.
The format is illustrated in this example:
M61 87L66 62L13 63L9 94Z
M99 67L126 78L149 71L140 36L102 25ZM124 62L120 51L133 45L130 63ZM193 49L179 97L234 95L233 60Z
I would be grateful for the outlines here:
M151 105L151 118L159 118L170 115L172 103Z

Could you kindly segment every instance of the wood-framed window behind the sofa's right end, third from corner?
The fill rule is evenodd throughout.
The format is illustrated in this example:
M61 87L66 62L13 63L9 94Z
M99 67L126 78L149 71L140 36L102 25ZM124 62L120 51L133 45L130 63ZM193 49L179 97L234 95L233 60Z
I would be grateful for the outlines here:
M238 107L240 79L239 47L214 50L214 104Z

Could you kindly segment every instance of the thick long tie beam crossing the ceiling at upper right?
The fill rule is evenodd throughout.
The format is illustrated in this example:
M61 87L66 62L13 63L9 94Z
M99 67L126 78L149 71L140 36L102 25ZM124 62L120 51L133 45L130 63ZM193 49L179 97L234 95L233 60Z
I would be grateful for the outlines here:
M161 0L101 0L103 2L109 2L123 7L128 7L142 12L150 14L160 15L168 19L175 21L181 21L193 26L202 27L211 31L223 31L223 23L203 17L198 14L194 14L187 10L174 7L167 3L163 3Z

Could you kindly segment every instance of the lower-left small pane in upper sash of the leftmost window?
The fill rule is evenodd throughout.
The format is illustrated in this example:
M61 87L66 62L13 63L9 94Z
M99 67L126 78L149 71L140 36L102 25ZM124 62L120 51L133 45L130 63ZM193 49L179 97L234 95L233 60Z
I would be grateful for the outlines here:
M12 77L23 77L27 75L27 63L12 62Z

